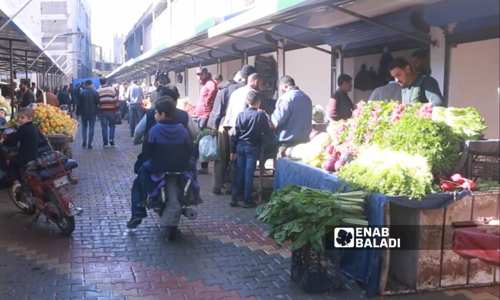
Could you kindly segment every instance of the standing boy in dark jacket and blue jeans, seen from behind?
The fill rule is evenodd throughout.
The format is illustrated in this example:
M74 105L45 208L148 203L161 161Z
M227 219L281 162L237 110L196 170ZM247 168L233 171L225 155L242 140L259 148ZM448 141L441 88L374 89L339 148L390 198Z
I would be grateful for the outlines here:
M265 100L262 93L250 90L246 97L248 108L236 119L236 126L231 136L231 160L236 160L236 180L232 188L231 206L237 206L236 196L244 186L243 207L255 207L251 199L253 173L260 156L262 136L269 132L269 120L263 111L259 111L260 102Z

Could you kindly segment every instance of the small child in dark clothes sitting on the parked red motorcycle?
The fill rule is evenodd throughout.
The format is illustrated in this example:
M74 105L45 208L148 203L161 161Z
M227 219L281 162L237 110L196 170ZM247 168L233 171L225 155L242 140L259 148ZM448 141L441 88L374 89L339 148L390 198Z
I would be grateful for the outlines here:
M2 141L3 145L17 148L17 154L10 159L10 171L14 179L12 191L18 192L21 184L20 169L31 160L38 158L39 129L33 124L34 112L31 108L17 111L19 128L11 136Z

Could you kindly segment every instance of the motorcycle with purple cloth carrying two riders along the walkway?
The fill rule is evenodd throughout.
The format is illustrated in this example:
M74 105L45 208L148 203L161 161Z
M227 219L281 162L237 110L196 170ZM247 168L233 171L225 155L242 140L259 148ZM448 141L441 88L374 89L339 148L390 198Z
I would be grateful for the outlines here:
M169 190L172 188L176 190ZM148 192L144 206L155 211L161 219L162 224L169 227L168 240L175 240L177 223L180 214L189 219L195 219L196 210L189 206L198 205L202 201L199 197L200 186L191 172L166 172L160 176L151 175L151 191ZM173 194L172 194L173 192ZM168 207L168 205L179 205L180 207ZM173 222L172 222L173 219ZM170 225L175 223L175 225Z

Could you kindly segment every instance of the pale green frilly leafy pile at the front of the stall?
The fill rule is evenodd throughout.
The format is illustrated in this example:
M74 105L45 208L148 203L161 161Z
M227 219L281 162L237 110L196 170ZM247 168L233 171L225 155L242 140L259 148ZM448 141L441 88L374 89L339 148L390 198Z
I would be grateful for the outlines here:
M425 157L376 145L362 149L337 174L351 188L367 188L389 196L420 198L432 192L433 176Z

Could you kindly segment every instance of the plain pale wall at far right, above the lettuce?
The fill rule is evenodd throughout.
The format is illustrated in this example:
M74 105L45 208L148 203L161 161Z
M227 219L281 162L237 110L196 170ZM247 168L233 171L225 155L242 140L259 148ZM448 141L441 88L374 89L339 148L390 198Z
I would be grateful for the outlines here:
M448 106L474 106L484 117L486 138L500 137L500 39L459 44L451 49Z

